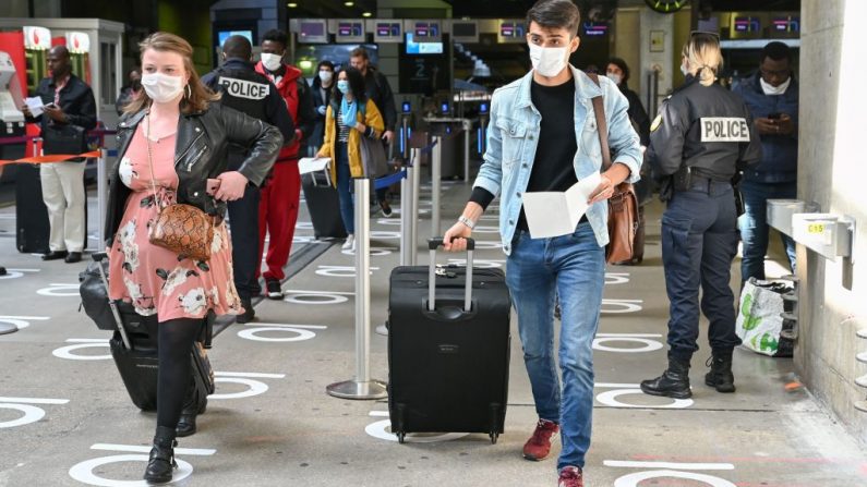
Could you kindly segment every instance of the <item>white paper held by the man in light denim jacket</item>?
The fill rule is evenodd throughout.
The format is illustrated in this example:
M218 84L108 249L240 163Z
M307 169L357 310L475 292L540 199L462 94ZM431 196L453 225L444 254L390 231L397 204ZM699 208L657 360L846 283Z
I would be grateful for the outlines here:
M587 212L587 200L599 186L598 172L573 184L566 192L540 191L525 193L523 214L533 239L568 235Z

